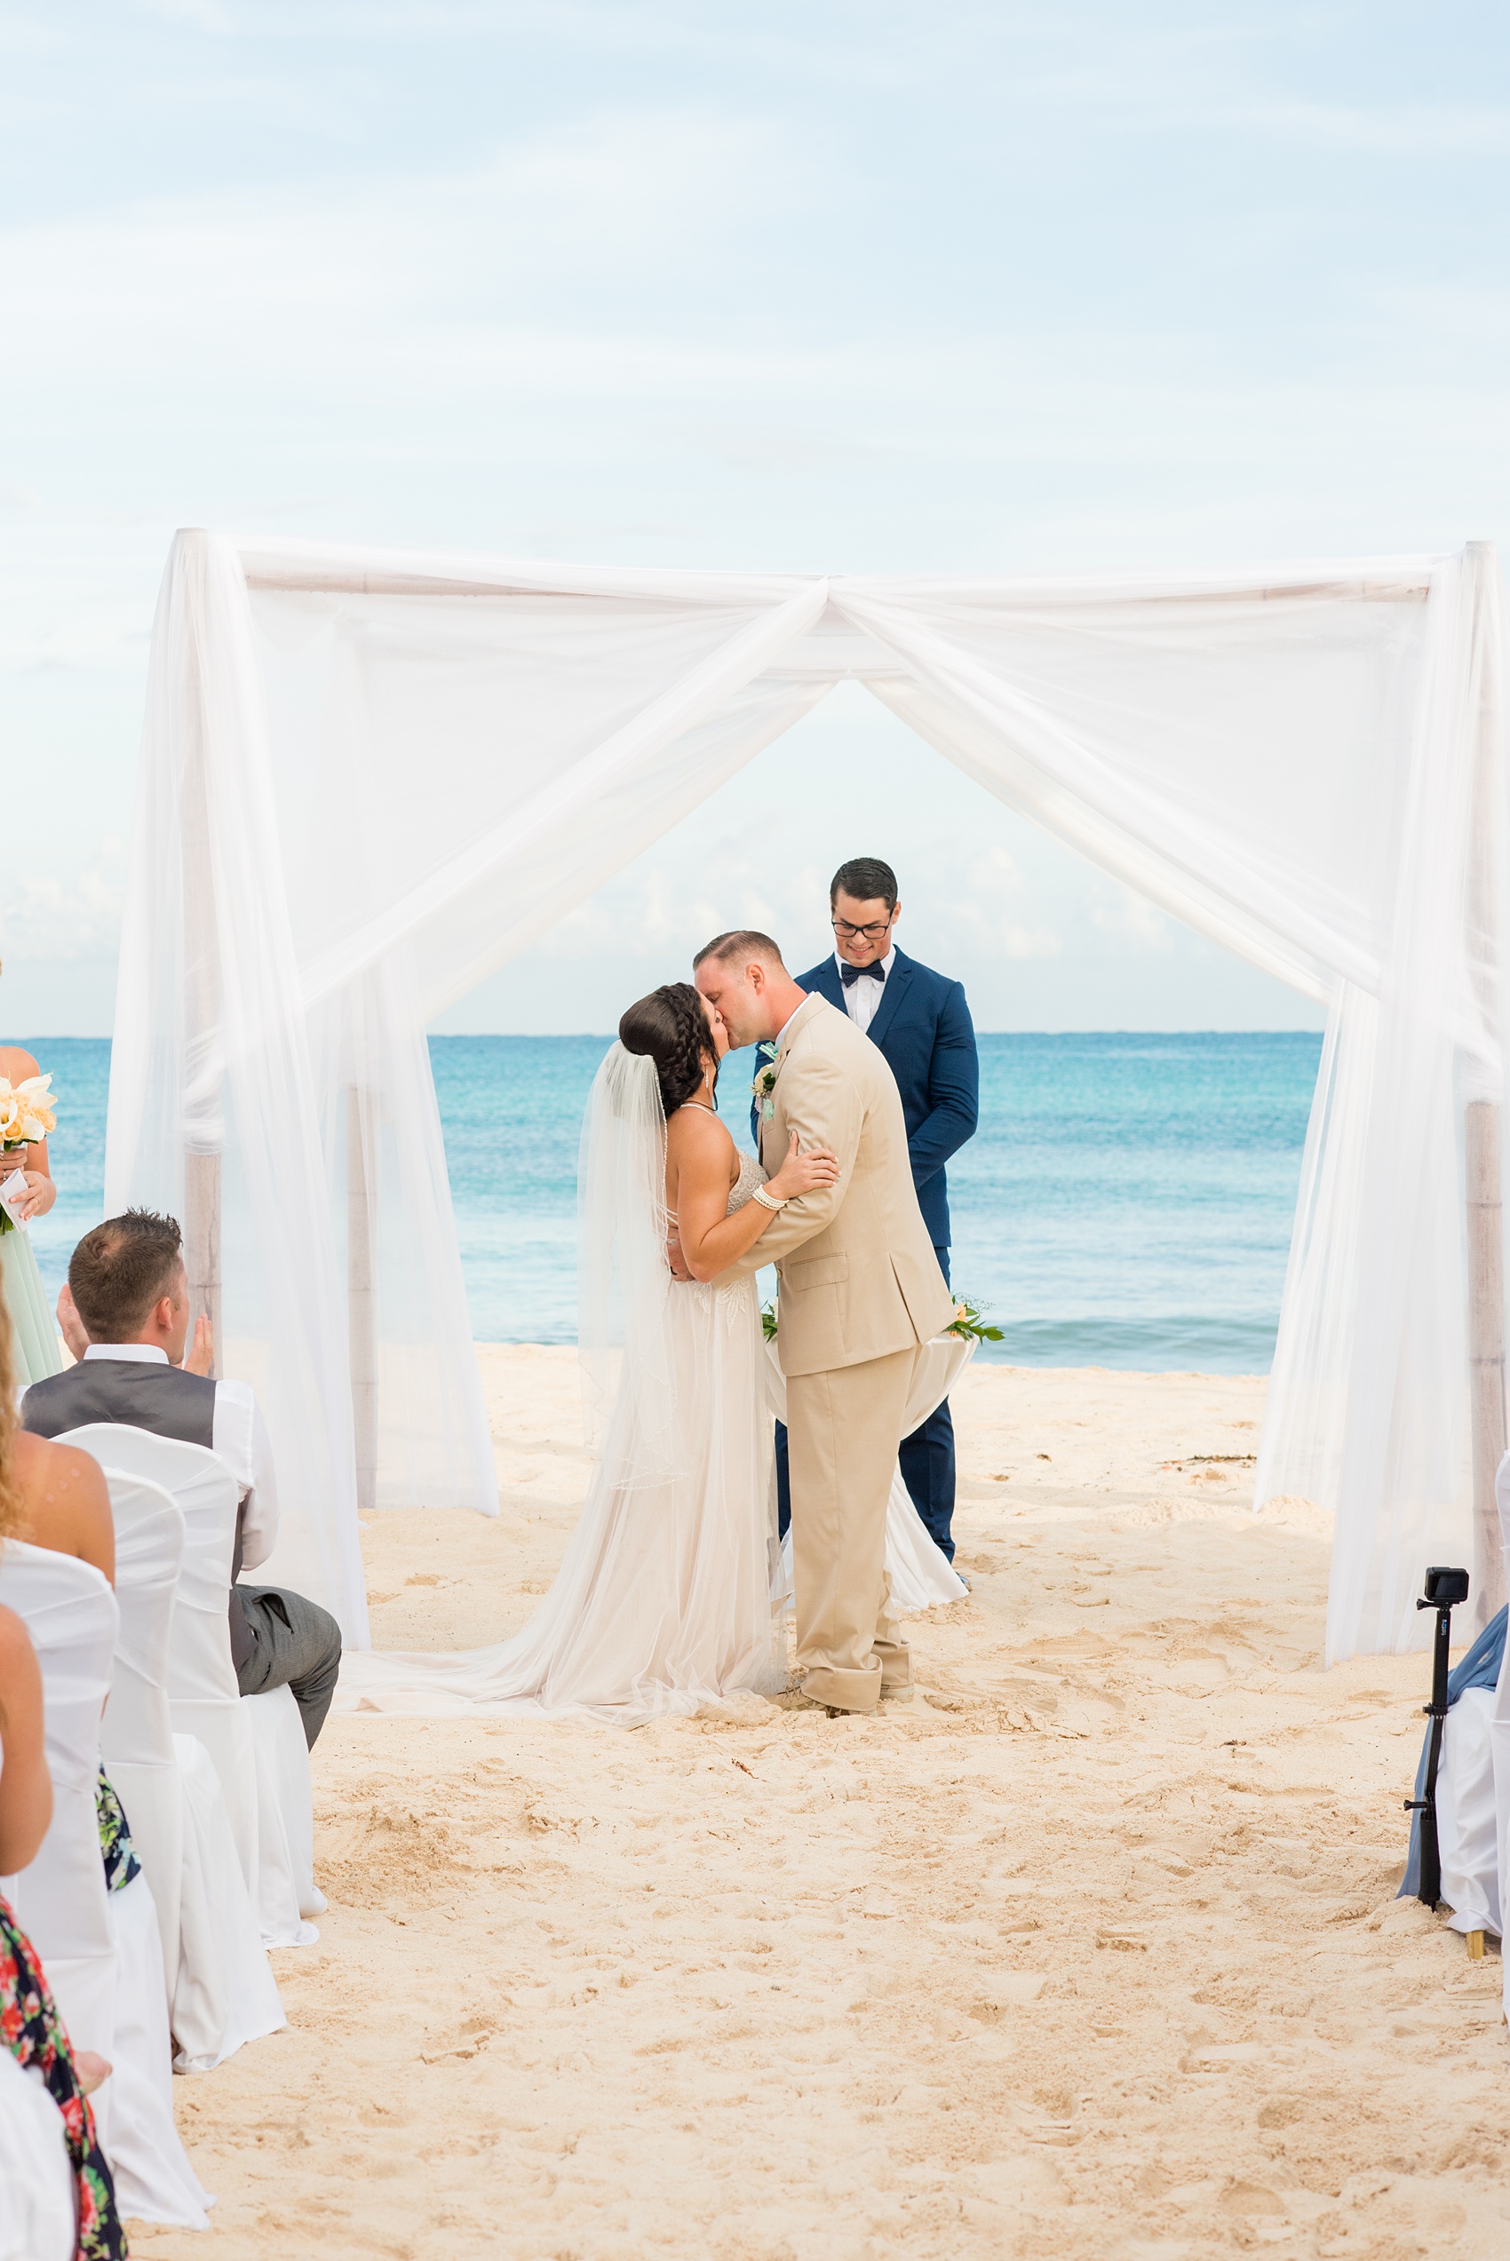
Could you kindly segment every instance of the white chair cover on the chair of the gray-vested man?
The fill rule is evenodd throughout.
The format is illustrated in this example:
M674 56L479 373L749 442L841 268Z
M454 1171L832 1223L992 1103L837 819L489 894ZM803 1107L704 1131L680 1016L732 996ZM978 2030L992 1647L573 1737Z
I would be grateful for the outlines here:
M289 1922L289 1908L298 1908L298 1877L289 1868L289 1845L298 1845L303 1831L312 1834L312 1822L294 1813L285 1818L283 1829L264 1834L260 1827L264 1804L260 1775L269 1773L262 1752L269 1743L278 1743L280 1764L271 1770L267 1797L276 1802L280 1791L287 1793L298 1782L298 1761L292 1752L283 1752L289 1732L303 1752L298 1707L292 1698L287 1705L280 1703L287 1696L285 1689L274 1696L242 1696L231 1662L226 1596L231 1594L235 1556L237 1481L231 1467L203 1445L154 1436L149 1429L95 1422L86 1429L70 1429L59 1443L81 1445L102 1465L160 1483L179 1504L183 1562L167 1653L167 1705L174 1734L197 1736L215 1761L231 1836L264 1947L307 1947L319 1933L298 1917ZM253 1725L255 1709L269 1705L274 1727L258 1730ZM307 1779L305 1757L305 1811Z

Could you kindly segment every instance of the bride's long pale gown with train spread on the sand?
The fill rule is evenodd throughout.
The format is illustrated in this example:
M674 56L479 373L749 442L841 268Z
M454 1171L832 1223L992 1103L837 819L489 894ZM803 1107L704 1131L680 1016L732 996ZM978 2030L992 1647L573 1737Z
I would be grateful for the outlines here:
M760 1183L744 1155L730 1214ZM646 1291L581 1522L529 1623L450 1655L348 1651L337 1712L588 1712L635 1725L782 1684L755 1282L665 1273L665 1289Z

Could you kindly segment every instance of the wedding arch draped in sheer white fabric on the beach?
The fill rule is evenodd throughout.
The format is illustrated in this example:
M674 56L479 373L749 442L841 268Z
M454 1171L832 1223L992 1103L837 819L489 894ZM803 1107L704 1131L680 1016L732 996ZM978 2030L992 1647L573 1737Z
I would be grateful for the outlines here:
M845 676L1329 1004L1259 1499L1336 1508L1329 1655L1413 1641L1422 1565L1472 1547L1472 1422L1494 1427L1494 1391L1503 1433L1496 1248L1472 1388L1465 1230L1472 1101L1469 1176L1499 1201L1483 545L913 581L181 534L151 647L106 1205L183 1214L197 1291L224 1280L222 1370L258 1386L278 1452L269 1576L359 1644L359 1499L497 1506L427 1020Z

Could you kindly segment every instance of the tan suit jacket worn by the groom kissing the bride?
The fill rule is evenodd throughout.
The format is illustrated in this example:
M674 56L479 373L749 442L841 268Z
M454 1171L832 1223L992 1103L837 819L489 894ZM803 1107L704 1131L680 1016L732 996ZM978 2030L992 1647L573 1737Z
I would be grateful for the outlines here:
M839 1155L839 1183L773 1216L728 1268L775 1264L784 1375L821 1375L913 1350L954 1318L906 1158L902 1094L882 1051L827 997L782 1033L760 1160L773 1176L791 1133Z

